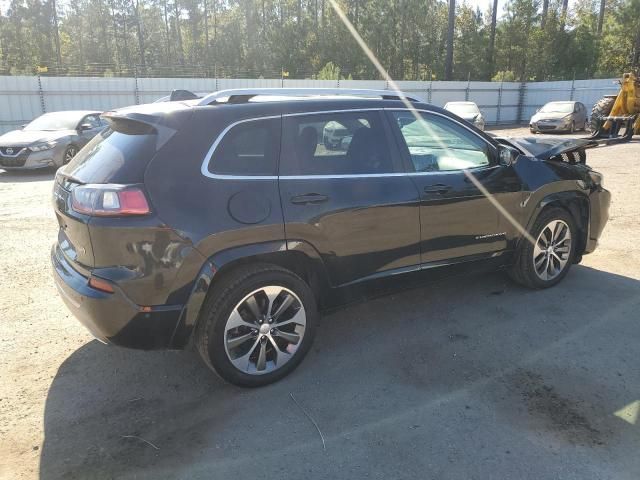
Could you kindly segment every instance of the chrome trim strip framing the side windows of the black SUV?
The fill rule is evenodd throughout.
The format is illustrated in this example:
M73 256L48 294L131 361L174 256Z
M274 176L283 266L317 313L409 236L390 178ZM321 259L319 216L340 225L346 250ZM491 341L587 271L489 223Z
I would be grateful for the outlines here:
M283 117L300 117L304 115L322 115L322 114L330 114L330 113L349 113L349 112L384 112L384 111L400 111L400 112L411 112L411 109L408 108L348 108L348 109L340 109L340 110L315 110L313 112L296 112L296 113L283 113L282 115L268 115L264 117L252 117L252 118L244 118L242 120L238 120L228 125L227 127L220 132L220 134L216 137L215 141L209 147L207 154L204 157L202 162L202 166L200 167L200 173L207 178L213 178L216 180L328 180L328 179L343 179L343 178L383 178L383 177L409 177L409 176L423 176L423 175L442 175L442 174L454 174L460 173L463 170L443 170L438 172L393 172L393 173L354 173L354 174L340 174L340 175L230 175L230 174L218 174L211 173L209 171L209 164L211 163L211 159L213 158L213 154L215 153L216 148L222 142L224 136L231 130L233 127L240 125L242 123L254 122L258 120L271 120L275 118L283 118ZM461 127L465 128L469 132L473 133L475 136L480 138L483 142L488 145L493 145L490 142L487 142L487 139L479 135L477 132L471 130L467 125L449 117L448 115L444 115L439 112L433 112L431 110L425 110L416 108L417 112L429 113L433 115L438 115L440 117L446 118ZM480 166L475 168L469 168L469 171L476 170L488 170L499 167L500 165L488 165L488 166ZM278 166L279 168L279 166Z

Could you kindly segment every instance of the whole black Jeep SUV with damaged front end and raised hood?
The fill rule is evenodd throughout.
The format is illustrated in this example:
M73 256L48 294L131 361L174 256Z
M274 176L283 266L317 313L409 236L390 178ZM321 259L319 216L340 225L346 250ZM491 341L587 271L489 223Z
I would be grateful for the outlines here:
M586 141L496 139L392 92L275 93L104 114L58 171L55 279L98 339L193 342L264 385L300 363L332 292L452 265L544 288L596 247L610 194ZM346 130L331 149L329 123Z

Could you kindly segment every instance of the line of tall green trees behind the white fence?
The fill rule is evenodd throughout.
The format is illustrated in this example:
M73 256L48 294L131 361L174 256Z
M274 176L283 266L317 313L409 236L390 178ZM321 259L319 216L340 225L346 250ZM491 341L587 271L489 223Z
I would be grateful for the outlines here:
M339 0L399 80L618 77L640 0ZM10 0L0 74L380 78L329 0Z

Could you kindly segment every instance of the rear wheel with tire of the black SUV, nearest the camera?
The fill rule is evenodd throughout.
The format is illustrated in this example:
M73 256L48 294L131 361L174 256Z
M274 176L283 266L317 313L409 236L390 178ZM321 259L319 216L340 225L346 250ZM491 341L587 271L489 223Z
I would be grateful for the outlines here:
M300 364L318 320L313 292L300 277L260 264L242 267L212 288L195 333L211 369L235 385L259 387Z

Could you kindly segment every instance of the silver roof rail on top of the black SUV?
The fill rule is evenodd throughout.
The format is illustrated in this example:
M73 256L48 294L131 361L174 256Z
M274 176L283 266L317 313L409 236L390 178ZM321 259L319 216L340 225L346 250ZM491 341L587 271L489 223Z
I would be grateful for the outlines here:
M204 96L198 105L210 105L212 103L245 103L253 97L320 97L339 96L364 98L382 98L383 100L400 100L406 98L410 102L420 102L421 100L409 97L402 92L395 90L368 90L351 88L237 88L231 90L220 90Z

